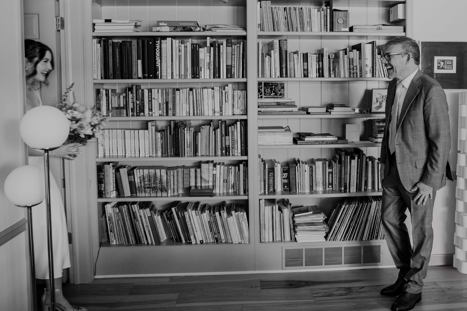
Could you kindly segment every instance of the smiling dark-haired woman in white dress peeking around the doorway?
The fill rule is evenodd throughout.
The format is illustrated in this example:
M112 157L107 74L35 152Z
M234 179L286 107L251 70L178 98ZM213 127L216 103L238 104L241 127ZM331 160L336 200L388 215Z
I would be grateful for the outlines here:
M38 41L25 40L25 70L26 70L26 110L42 106L41 87L47 85L47 76L53 70L53 55L50 48ZM76 143L64 144L49 153L50 157L60 157L73 160L78 155L79 145ZM43 152L28 147L29 165L44 168ZM62 194L57 182L50 178L50 206L52 218L52 246L54 255L54 285L56 310L85 311L86 309L72 306L63 296L62 271L69 268L70 251L68 246L68 230ZM45 201L32 208L34 255L36 278L44 279L46 290L42 295L43 311L50 310L50 280L49 280L49 253L47 248L47 220Z

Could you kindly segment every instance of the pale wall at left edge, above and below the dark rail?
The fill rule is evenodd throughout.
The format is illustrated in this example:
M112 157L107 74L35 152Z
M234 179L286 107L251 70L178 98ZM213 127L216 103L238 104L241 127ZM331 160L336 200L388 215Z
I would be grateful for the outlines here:
M22 1L2 1L0 10L0 232L25 217L3 193L8 173L23 163L19 123L23 111ZM7 42L7 44L5 44ZM0 310L28 310L25 232L0 246Z

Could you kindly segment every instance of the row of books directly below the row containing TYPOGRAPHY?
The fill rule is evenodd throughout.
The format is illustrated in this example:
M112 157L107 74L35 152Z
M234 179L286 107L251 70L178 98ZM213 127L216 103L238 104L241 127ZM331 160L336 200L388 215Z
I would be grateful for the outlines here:
M96 89L96 110L102 117L233 116L247 114L247 91L232 84L213 88L141 89L141 85Z

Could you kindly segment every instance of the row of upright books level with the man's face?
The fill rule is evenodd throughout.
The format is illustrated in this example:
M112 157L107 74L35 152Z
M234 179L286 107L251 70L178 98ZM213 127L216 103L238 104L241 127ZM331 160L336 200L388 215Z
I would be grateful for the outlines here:
M382 46L376 41L358 43L352 48L344 48L335 54L328 48L320 48L318 53L287 50L287 39L272 40L262 52L262 39L258 40L258 77L260 78L354 78L387 77L387 69L382 63Z

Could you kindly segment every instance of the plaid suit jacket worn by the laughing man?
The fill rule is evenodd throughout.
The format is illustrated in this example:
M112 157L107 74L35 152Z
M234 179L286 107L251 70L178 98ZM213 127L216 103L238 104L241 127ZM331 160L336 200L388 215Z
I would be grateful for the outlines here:
M386 100L386 127L381 146L384 176L389 173L389 121L397 80L389 83ZM452 179L449 166L451 133L446 94L441 85L420 70L405 95L395 138L396 164L403 187L422 181L436 191Z

